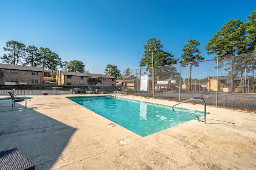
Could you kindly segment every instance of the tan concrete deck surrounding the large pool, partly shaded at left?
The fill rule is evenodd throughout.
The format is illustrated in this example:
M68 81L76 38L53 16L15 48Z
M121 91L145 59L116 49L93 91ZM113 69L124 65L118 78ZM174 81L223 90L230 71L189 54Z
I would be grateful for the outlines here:
M71 96L99 95L28 96L29 108L19 102L15 110L11 100L1 100L0 151L19 149L36 170L256 169L254 112L206 106L206 123L194 119L141 137L66 98ZM204 109L186 103L179 107ZM123 145L123 139L131 142Z

